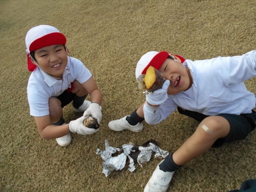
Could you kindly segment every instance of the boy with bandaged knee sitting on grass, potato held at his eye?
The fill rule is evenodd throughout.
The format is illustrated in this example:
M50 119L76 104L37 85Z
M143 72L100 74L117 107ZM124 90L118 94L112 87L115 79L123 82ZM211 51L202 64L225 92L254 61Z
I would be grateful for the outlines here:
M148 52L136 67L136 78L153 66L166 78L161 89L131 116L109 122L115 131L142 131L142 121L158 124L175 109L200 124L180 148L160 162L144 192L166 192L173 173L211 147L245 138L256 127L256 97L245 84L256 76L256 50L242 56L184 60L167 52Z

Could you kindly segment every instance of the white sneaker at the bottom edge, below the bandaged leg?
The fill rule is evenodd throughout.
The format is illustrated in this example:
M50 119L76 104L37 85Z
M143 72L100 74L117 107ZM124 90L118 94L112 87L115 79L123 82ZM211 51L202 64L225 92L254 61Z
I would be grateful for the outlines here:
M162 160L163 162L163 160ZM160 162L160 163L162 163ZM173 177L173 172L164 172L159 169L159 165L154 170L150 180L147 182L146 187L144 188L144 192L166 192L169 183Z

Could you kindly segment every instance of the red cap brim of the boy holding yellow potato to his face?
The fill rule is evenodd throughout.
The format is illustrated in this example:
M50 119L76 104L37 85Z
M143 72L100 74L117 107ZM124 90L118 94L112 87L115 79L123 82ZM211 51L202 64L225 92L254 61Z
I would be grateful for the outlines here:
M158 54L156 54L151 61L149 62L149 64L143 69L143 71L141 72L141 74L146 74L147 72L147 68L149 68L150 66L156 68L157 70L159 70L159 68L162 66L163 62L165 62L165 60L167 59L167 57L169 56L169 53L166 51L161 51Z

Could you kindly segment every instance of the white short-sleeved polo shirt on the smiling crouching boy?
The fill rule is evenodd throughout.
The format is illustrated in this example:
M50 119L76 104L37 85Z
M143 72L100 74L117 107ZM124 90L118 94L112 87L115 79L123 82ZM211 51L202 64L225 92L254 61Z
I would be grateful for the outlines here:
M30 115L34 117L49 115L49 98L62 94L75 80L84 83L91 76L90 71L80 60L70 56L62 80L55 79L37 67L31 73L27 85Z

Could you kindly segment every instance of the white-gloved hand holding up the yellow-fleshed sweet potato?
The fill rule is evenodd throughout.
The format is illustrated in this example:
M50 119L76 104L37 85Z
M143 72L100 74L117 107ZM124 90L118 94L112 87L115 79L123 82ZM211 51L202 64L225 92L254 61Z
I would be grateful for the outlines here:
M160 105L168 98L167 90L170 81L167 79L161 89L153 91L152 94L146 95L146 101L151 105Z

